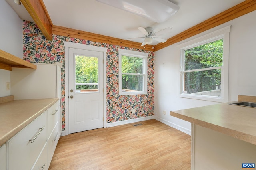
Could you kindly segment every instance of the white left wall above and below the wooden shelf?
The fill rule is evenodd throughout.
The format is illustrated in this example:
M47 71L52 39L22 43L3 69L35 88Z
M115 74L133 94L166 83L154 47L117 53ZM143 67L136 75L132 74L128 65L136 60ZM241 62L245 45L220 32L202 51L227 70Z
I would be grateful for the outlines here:
M23 59L22 20L5 0L0 0L0 49ZM10 95L6 90L10 71L0 69L0 97Z

